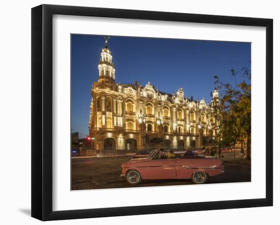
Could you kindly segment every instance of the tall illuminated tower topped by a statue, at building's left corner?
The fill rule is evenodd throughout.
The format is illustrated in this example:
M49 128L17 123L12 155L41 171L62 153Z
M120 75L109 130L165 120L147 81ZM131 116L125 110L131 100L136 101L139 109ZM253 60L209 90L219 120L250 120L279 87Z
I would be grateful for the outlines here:
M105 38L105 46L102 49L100 60L98 64L99 79L98 82L111 82L115 83L115 68L113 62L113 56L111 51L108 49L109 37Z

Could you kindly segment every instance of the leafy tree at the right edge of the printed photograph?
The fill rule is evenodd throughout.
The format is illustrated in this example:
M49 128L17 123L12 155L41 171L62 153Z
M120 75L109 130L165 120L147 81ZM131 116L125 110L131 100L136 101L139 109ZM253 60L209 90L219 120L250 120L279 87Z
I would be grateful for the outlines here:
M214 109L215 116L220 110L220 132L215 139L219 147L234 145L237 142L246 141L246 158L251 157L251 73L247 68L235 71L231 70L234 85L223 83L217 76L214 76L215 85L220 93L220 109ZM237 78L243 81L237 82Z

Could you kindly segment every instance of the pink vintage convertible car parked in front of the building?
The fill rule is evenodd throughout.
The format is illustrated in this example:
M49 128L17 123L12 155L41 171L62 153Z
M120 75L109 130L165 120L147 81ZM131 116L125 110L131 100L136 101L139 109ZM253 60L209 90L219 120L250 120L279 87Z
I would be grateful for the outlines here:
M130 184L141 180L192 179L195 184L207 181L208 176L225 173L223 162L217 158L184 155L174 159L162 158L162 151L153 150L148 157L130 159L122 164L121 177Z

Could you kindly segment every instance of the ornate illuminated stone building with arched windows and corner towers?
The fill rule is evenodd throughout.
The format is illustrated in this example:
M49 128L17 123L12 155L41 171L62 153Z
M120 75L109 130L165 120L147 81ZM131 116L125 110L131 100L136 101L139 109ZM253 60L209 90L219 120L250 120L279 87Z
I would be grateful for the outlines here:
M165 93L148 82L115 83L113 56L108 38L98 65L99 79L93 82L89 132L95 149L195 148L207 146L219 125L213 108L219 106L215 88L211 104L177 93Z

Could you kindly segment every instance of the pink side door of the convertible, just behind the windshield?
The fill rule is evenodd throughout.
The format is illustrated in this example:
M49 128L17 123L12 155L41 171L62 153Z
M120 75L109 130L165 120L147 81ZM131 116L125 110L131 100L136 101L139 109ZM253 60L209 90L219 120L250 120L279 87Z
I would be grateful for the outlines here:
M150 179L176 178L176 159L158 159L154 157L149 162L148 173Z

